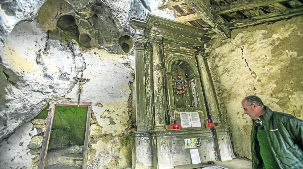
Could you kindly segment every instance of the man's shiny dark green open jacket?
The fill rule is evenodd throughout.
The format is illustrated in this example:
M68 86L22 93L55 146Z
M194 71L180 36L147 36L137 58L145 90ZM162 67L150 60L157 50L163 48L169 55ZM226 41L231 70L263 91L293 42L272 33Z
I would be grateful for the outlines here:
M265 114L260 116L262 126L267 131L269 147L273 151L273 160L280 168L303 169L303 121L294 116L274 112L265 106ZM251 151L253 168L263 168L257 140L257 126L251 133Z

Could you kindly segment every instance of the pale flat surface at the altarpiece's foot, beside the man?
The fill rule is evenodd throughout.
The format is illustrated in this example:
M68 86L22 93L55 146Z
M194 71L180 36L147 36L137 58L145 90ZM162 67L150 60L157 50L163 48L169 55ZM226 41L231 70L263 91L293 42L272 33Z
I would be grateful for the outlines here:
M233 159L228 161L214 161L215 164L208 165L207 163L201 163L201 164L186 164L186 165L180 165L180 166L174 166L176 169L200 169L201 167L208 167L208 166L221 166L228 169L252 169L252 162L247 159Z

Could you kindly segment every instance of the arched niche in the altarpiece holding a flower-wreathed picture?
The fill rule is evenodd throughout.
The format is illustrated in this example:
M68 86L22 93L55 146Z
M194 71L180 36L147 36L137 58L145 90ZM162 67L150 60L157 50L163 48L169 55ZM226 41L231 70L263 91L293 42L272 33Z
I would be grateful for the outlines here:
M166 66L167 79L171 81L168 82L168 88L171 88L168 92L172 92L170 95L172 97L170 98L172 107L185 108L204 105L201 101L203 99L202 87L196 65L193 61L181 55L174 55L169 58ZM182 84L180 85L179 82Z

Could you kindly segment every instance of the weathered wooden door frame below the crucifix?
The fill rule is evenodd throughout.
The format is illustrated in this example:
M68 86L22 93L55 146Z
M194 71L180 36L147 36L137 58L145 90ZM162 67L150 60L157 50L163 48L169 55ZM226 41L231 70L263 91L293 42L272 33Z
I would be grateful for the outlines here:
M45 128L41 152L40 152L40 158L39 158L39 164L38 164L39 169L44 169L46 154L47 154L47 149L48 149L48 143L50 141L50 136L51 136L51 126L53 124L56 106L78 106L78 102L55 101L55 102L50 103L50 106L48 109L47 121L46 121L46 128ZM82 169L86 169L88 137L89 137L90 127L91 127L91 102L79 102L79 106L87 107L87 119L86 119L86 129L85 129L85 138L84 138L84 147L83 147L83 163L82 163Z

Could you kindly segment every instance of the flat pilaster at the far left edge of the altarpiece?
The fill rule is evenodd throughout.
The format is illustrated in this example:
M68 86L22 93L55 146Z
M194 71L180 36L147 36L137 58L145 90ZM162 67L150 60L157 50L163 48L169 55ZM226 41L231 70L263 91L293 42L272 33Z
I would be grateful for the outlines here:
M145 96L145 71L144 71L144 45L146 41L135 41L136 62L136 124L137 131L147 131L146 125L146 96Z

